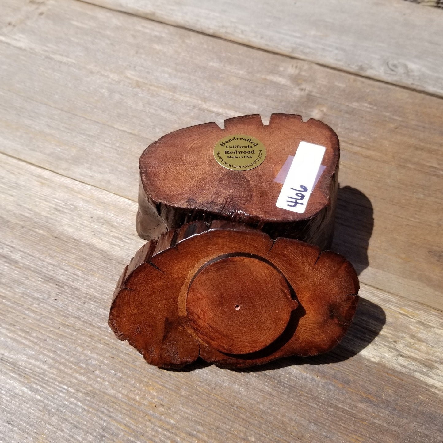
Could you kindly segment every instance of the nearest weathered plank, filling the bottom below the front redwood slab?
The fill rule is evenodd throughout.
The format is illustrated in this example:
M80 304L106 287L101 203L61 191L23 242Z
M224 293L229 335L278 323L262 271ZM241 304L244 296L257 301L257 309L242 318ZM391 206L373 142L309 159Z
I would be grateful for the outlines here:
M441 442L441 312L363 284L326 356L160 370L106 324L142 244L136 204L5 155L0 168L2 441Z

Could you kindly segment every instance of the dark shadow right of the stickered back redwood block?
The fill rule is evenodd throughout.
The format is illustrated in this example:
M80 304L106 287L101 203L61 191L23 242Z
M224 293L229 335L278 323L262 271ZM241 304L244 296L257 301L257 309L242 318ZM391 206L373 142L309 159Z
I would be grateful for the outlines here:
M368 246L374 227L372 203L350 186L338 187L332 250L344 255L358 275L369 266Z

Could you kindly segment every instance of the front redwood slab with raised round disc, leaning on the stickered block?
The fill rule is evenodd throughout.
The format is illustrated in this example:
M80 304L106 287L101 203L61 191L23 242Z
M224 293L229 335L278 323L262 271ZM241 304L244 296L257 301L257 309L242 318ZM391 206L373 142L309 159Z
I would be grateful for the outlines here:
M201 356L247 367L332 349L350 326L358 278L342 256L225 221L144 245L124 269L109 325L151 364Z

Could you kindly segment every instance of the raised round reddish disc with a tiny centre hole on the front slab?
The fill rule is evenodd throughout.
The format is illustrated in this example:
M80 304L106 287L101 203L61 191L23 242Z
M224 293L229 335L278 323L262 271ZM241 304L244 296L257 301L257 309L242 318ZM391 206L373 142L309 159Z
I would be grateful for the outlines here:
M186 311L203 342L249 354L276 340L298 306L284 276L263 259L219 256L194 275Z

